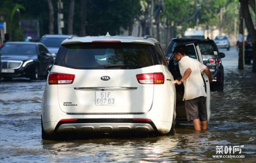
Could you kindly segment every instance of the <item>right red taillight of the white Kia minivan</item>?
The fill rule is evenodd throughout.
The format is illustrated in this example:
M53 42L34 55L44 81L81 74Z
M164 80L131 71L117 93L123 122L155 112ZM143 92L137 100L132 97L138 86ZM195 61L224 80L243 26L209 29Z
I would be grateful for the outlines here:
M136 75L140 84L163 84L163 73L143 73Z

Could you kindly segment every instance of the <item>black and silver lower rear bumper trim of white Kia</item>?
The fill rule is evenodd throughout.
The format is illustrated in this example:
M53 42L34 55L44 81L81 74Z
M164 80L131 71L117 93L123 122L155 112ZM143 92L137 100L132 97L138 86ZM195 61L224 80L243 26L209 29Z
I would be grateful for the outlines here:
M75 122L59 121L54 133L77 132L77 133L153 133L157 129L150 120L133 119L78 119Z

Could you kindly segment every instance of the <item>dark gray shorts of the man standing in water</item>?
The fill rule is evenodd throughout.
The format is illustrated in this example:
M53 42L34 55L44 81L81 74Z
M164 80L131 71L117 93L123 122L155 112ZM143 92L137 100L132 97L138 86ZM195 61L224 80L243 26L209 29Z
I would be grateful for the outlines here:
M207 120L206 98L203 96L195 99L185 100L185 109L188 121L200 119Z

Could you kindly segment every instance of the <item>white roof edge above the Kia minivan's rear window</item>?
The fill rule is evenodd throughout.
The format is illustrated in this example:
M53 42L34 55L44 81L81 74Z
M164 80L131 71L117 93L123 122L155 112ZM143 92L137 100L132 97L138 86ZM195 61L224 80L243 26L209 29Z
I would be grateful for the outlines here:
M73 44L73 43L93 43L93 42L121 42L121 43L142 43L154 45L158 43L156 39L151 37L132 37L132 36L86 36L86 37L72 37L66 39L61 45Z

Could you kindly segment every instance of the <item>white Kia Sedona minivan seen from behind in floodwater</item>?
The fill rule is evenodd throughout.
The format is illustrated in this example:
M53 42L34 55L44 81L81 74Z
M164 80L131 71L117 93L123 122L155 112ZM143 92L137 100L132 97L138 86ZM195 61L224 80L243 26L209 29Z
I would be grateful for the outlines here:
M66 39L49 69L43 139L63 132L174 134L176 90L157 40Z

